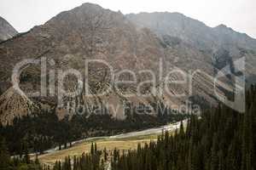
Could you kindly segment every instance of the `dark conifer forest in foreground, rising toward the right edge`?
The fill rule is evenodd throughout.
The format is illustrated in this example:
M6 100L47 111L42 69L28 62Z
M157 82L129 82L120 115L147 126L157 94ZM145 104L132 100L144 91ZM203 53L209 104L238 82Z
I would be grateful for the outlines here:
M113 170L253 170L256 167L256 87L247 92L247 111L219 106L191 116L186 128L175 134L163 133L157 142L140 144L137 150L113 150ZM93 151L94 150L94 151ZM90 155L56 162L55 170L87 170L107 167L105 152L92 147ZM102 161L99 158L102 155ZM96 157L98 159L96 159ZM105 157L105 158L104 158ZM105 161L105 162L104 162ZM102 166L105 165L105 166Z

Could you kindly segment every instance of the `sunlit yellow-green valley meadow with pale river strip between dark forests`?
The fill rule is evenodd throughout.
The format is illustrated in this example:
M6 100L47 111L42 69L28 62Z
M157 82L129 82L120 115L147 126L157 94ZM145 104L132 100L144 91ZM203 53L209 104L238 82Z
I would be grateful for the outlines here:
M187 121L183 121L186 126ZM83 153L90 152L90 144L96 142L98 150L106 148L108 152L114 150L133 150L137 149L137 144L146 144L151 140L156 140L157 136L163 131L174 132L180 126L180 122L172 123L163 127L150 128L133 133L123 133L109 137L95 137L74 141L73 146L66 150L46 150L45 154L38 156L41 163L52 166L55 161L63 161L66 156L81 156ZM32 155L35 158L35 155Z

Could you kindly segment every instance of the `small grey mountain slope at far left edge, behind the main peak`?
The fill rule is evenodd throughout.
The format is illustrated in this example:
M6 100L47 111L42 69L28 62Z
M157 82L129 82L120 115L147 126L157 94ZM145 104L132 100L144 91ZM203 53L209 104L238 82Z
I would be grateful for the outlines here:
M13 26L9 24L8 21L0 17L0 42L8 40L11 37L15 37L18 31L15 30Z

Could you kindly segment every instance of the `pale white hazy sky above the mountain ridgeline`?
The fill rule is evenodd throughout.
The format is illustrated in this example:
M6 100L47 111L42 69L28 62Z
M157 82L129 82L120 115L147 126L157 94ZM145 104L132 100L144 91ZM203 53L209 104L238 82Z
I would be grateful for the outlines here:
M256 38L255 0L0 0L0 16L17 31L28 31L63 10L86 2L97 3L114 11L120 10L123 14L179 12L201 20L207 26L224 24Z

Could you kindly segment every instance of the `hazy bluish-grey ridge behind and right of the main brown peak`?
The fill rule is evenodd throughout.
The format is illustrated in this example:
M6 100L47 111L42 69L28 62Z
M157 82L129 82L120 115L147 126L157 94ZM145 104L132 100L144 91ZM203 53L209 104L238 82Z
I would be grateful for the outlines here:
M256 40L248 37L247 34L239 33L224 25L212 28L179 13L126 14L126 17L138 27L147 27L160 37L166 35L178 37L183 42L203 50L233 46L251 50L256 48Z

